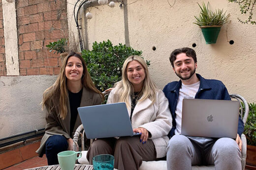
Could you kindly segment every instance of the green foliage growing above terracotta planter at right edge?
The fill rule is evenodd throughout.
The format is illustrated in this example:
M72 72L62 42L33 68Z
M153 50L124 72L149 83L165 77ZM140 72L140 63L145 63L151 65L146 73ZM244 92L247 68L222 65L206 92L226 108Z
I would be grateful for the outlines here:
M245 123L244 134L247 145L256 146L256 103L249 103L249 114Z

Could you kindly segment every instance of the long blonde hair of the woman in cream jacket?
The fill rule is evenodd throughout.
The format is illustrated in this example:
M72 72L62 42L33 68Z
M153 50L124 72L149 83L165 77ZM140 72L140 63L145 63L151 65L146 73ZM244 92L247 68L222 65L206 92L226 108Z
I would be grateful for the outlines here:
M115 88L117 89L116 99L118 102L125 102L127 107L131 107L129 98L130 98L130 95L133 95L134 89L131 82L128 80L127 66L128 66L128 63L133 60L139 62L145 70L145 79L143 80L143 86L142 86L141 92L139 93L138 101L143 101L146 98L149 98L152 100L152 103L154 103L156 100L157 86L150 78L149 70L146 62L138 55L129 56L125 60L123 69L122 69L122 80L115 84Z

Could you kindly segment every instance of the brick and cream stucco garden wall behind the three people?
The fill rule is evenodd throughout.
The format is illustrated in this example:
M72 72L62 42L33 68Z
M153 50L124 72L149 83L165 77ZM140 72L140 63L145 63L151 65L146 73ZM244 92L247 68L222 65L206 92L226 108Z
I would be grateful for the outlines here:
M45 46L72 35L77 39L73 29L76 25L70 22L76 0L8 1L15 3L12 14L16 17L3 21L3 16L8 17L10 13L4 15L2 11L6 11L6 6L2 4L7 1L0 0L0 138L45 126L40 106L42 93L53 84L61 65L59 55L49 53ZM85 47L91 49L93 42L109 39L114 45L123 43L142 50L144 58L151 61L150 73L160 89L178 80L168 59L171 51L190 47L197 53L197 73L222 80L229 93L256 102L256 25L238 22L237 18L243 17L237 4L227 0L210 1L211 9L224 8L230 18L222 27L217 43L206 45L200 28L192 24L194 15L199 13L197 1L123 2L125 5L116 3L114 8L96 5L85 9L84 14L88 11L93 14L91 20L85 17L81 20ZM17 27L14 32L17 40L9 38L12 33L4 30L4 23L14 19L17 20L13 24ZM10 41L13 47L6 49L6 42ZM6 53L15 48L18 49L18 65L12 60L14 54Z

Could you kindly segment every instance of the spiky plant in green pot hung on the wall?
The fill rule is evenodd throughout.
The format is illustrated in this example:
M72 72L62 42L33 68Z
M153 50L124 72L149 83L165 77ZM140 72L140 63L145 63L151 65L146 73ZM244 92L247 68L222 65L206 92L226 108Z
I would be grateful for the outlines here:
M197 3L199 5L199 3ZM198 17L194 16L196 21L193 24L200 26L206 44L215 44L220 33L221 27L227 22L229 14L226 15L226 12L220 9L212 12L208 9L209 2L207 6L202 3L202 6L199 5L201 12Z

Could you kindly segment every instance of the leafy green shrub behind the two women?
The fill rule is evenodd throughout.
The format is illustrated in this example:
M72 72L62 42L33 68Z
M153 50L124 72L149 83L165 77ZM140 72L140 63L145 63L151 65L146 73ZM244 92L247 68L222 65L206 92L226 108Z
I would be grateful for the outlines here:
M126 45L113 46L110 40L106 42L95 42L92 50L83 50L82 57L87 63L87 68L96 88L105 91L120 81L122 78L122 67L128 56L141 55ZM150 61L146 61L150 65Z

